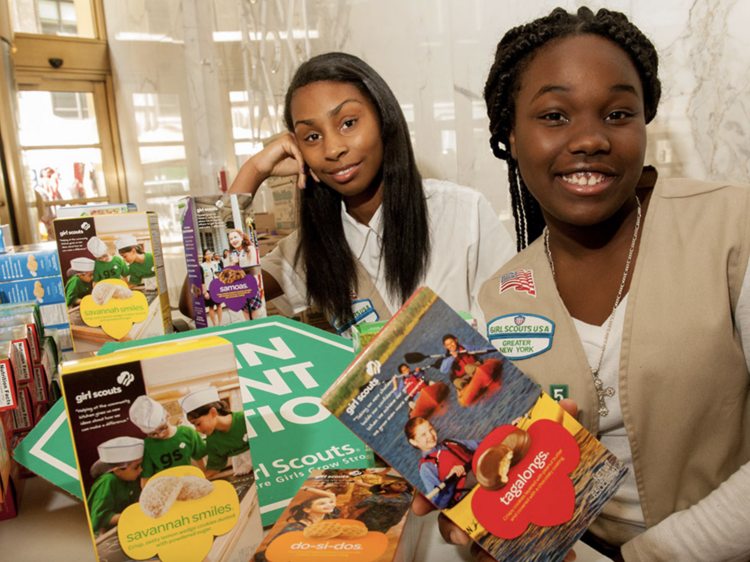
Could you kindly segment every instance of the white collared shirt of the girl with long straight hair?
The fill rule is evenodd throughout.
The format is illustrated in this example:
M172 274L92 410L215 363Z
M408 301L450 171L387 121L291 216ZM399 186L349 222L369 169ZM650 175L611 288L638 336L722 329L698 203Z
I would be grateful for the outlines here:
M454 183L428 179L422 182L427 197L432 255L427 274L420 285L430 287L455 310L469 312L484 325L476 304L482 283L515 254L507 231L484 196ZM354 256L370 274L380 296L394 314L403 304L389 294L380 255L382 244L381 210L364 225L353 219L341 205L344 236ZM261 267L271 274L284 291L273 303L287 316L308 308L307 290L302 279L278 250L264 257Z

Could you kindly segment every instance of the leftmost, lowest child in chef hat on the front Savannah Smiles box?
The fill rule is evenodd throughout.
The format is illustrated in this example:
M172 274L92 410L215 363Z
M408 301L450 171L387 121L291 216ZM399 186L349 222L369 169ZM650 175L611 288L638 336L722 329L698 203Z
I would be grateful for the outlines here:
M91 466L94 484L87 498L96 535L117 525L123 510L140 498L143 440L116 437L99 445L97 451L99 460Z

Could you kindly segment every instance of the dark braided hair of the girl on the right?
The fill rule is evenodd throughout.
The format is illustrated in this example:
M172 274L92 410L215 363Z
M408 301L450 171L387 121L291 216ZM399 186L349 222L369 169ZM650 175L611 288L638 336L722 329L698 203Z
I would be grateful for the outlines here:
M510 153L510 132L515 123L515 97L521 77L540 47L553 39L572 35L598 35L625 51L641 78L646 123L656 115L661 97L659 60L653 43L630 23L627 16L606 9L594 14L582 7L575 14L555 8L549 15L514 27L497 46L495 62L484 86L490 119L490 146L495 157L508 163L511 205L516 223L516 246L520 252L544 231L539 203L523 182L518 162ZM502 146L501 146L502 145ZM504 146L504 148L503 148Z

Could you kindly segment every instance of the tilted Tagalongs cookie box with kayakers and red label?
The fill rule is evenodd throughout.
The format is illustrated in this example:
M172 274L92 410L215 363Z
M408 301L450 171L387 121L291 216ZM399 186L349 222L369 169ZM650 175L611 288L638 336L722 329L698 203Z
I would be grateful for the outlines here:
M627 472L428 288L323 404L498 560L562 560Z

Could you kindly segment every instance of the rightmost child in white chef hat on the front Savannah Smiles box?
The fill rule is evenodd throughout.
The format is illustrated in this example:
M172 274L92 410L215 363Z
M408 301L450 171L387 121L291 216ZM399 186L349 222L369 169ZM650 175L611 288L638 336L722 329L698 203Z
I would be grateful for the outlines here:
M253 469L245 414L233 412L229 404L219 398L216 387L191 392L180 400L180 407L185 418L206 436L206 478L224 470L230 457L235 475L247 474Z

